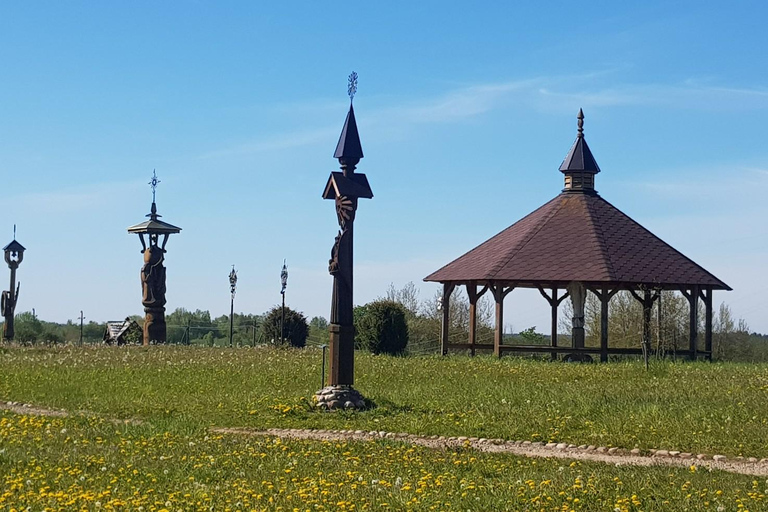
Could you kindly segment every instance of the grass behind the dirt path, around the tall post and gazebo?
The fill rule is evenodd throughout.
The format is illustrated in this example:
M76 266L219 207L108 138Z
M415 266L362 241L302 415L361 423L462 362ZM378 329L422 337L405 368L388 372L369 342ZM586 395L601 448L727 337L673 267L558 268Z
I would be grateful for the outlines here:
M357 354L376 407L321 413L318 349L5 349L0 398L208 426L352 428L768 457L768 365Z

